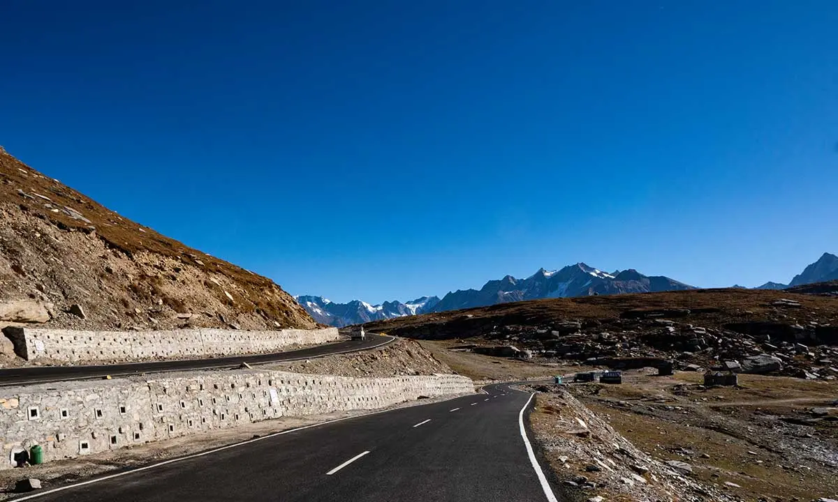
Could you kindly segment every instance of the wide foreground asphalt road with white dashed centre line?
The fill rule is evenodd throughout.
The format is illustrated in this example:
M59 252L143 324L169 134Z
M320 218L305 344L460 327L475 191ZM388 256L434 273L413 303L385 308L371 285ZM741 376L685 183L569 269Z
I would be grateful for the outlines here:
M17 500L564 500L549 468L542 482L528 453L531 434L522 424L530 393L505 385L486 391L278 433L56 491L44 486Z

